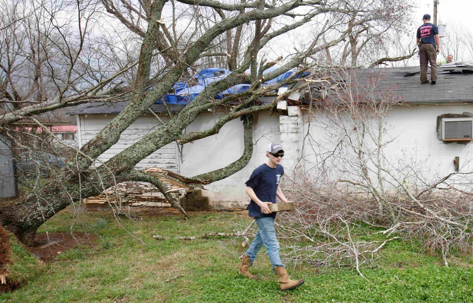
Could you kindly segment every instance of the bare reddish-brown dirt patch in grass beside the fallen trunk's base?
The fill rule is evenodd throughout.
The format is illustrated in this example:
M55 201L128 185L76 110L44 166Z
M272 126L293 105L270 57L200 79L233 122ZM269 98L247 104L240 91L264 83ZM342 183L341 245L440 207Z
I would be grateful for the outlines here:
M78 245L93 245L96 236L86 233L42 233L34 238L33 247L28 248L36 257L51 261L62 252Z

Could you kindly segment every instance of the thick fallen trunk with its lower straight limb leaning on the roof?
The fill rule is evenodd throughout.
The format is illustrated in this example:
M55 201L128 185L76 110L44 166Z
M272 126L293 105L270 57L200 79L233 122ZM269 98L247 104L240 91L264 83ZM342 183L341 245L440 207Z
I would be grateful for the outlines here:
M238 74L229 76L226 83L215 82L209 85L207 87L209 95L199 95L192 104L175 115L166 125L120 152L99 168L92 167L85 172L77 173L74 163L69 163L56 180L43 185L22 202L13 206L0 207L0 224L15 234L21 242L31 246L37 229L57 212L70 203L76 202L79 197L83 199L97 195L103 189L113 186L115 182L137 180L137 175L131 172L135 164L182 136L182 130L207 109L207 106L203 105L207 103L204 100L224 90L228 85L232 85L232 79L237 81ZM106 141L99 140L97 143L100 146ZM88 157L87 160L91 161L91 158ZM155 185L158 185L158 188L161 186ZM160 190L164 193L167 188L160 188ZM169 202L179 208L172 200ZM183 212L182 209L181 211Z

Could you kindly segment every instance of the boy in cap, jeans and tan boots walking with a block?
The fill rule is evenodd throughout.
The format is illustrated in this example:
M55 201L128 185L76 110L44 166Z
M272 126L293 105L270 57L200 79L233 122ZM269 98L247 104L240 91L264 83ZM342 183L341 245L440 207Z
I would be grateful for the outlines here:
M279 164L284 156L284 151L279 144L271 143L267 148L266 156L268 161L257 167L246 182L246 194L251 199L248 212L251 217L255 218L258 232L246 253L241 257L238 272L257 280L258 278L249 272L249 267L253 265L260 248L265 245L273 273L277 275L279 287L282 291L286 291L301 286L304 280L289 278L279 257L279 242L274 229L276 213L271 212L268 208L269 204L276 203L276 196L283 202L290 202L278 186L284 174L284 169Z

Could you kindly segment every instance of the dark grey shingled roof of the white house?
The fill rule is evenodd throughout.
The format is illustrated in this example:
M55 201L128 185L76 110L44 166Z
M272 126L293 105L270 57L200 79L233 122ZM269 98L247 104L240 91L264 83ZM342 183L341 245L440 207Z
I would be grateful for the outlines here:
M352 70L356 82L360 86L375 83L375 90L380 93L388 92L399 97L404 103L447 103L473 102L473 64L457 62L438 67L437 84L420 84L420 67L388 67L388 68L358 68ZM344 73L347 77L347 73ZM334 79L338 83L346 82L338 74ZM430 80L430 68L427 71ZM303 95L303 94L302 94ZM275 97L261 97L260 102L267 104ZM121 102L92 102L69 108L69 115L80 114L119 114L127 106L127 101ZM172 113L176 113L185 105L169 104ZM163 104L153 104L151 110L155 113L167 113Z

